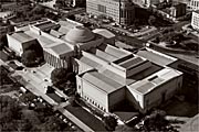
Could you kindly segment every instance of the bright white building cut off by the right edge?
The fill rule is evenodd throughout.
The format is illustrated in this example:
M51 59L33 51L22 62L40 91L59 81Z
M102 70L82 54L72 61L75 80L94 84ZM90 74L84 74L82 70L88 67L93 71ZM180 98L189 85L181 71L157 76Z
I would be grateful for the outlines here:
M199 10L192 11L191 26L199 32Z

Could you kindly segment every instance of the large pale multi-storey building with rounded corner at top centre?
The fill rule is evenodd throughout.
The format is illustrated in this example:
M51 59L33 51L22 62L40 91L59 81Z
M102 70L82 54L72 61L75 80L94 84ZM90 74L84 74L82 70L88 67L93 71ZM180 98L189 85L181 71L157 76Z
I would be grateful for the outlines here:
M106 15L122 25L129 25L135 18L134 3L130 0L86 0L86 12Z

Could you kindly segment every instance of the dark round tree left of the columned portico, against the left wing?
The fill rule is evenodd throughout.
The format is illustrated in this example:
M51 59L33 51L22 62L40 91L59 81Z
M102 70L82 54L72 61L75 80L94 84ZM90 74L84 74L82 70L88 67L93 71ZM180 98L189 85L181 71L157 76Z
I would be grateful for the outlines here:
M35 64L38 64L36 61L38 61L36 53L32 50L24 51L21 56L22 64L28 67L35 66Z

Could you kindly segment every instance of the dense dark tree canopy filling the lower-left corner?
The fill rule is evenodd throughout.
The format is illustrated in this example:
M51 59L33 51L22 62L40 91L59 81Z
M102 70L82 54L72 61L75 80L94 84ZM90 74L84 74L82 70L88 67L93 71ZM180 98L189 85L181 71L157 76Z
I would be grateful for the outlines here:
M51 108L30 110L27 107L21 107L20 101L9 96L0 96L0 131L72 131L67 124L54 117Z

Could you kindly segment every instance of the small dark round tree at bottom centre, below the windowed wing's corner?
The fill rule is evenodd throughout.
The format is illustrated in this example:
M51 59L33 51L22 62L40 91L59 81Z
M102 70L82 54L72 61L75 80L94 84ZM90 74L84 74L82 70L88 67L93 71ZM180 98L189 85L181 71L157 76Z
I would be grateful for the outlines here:
M117 120L112 116L104 117L103 123L108 131L115 131L115 128L117 127Z

